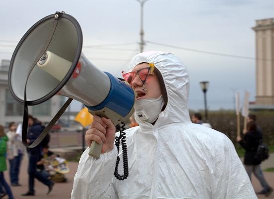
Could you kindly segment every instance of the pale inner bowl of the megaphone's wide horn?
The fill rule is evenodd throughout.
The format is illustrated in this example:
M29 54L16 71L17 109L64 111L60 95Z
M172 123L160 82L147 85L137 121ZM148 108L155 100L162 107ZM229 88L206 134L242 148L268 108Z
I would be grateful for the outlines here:
M10 61L8 85L13 97L23 103L24 87L28 105L39 104L54 96L69 80L81 55L82 30L77 20L69 14L59 18L56 30L47 51L52 57L60 57L69 63L67 70L59 70L63 74L52 76L36 64L28 80L27 74L31 64L43 49L50 31L54 14L48 15L36 22L22 37L14 50ZM56 68L60 62L56 62ZM68 64L67 64L68 65ZM58 78L59 77L59 78Z

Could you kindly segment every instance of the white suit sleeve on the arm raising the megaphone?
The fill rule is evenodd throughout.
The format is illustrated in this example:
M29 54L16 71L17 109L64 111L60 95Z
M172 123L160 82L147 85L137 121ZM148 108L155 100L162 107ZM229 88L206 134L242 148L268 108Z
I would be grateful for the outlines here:
M87 148L80 158L74 177L71 199L118 199L113 177L117 148L101 154L99 159L88 155Z

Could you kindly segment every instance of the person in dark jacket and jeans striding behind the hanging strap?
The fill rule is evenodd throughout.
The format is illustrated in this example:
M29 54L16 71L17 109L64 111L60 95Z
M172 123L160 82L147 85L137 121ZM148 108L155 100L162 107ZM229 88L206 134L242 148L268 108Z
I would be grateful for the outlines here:
M28 116L28 133L27 133L27 143L31 144L33 143L37 137L41 134L41 132L44 130L44 126L41 125L41 122L39 122L36 118L32 117L31 115ZM43 183L48 187L49 194L52 190L52 187L54 185L54 182L48 180L43 175L41 175L36 170L37 162L40 160L41 156L41 144L34 148L28 148L28 192L25 194L22 194L22 196L34 196L34 178L36 178L38 181Z

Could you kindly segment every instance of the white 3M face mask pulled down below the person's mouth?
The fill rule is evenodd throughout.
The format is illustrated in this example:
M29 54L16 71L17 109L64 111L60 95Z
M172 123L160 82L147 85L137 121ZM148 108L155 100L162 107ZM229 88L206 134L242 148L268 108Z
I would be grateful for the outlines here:
M134 116L136 120L146 121L151 124L158 118L163 106L162 96L157 99L136 100Z

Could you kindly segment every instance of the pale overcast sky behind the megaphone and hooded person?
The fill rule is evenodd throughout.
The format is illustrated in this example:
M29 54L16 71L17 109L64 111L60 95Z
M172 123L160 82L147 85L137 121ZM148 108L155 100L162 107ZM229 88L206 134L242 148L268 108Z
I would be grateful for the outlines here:
M0 59L10 59L23 34L41 18L64 10L83 32L83 53L102 71L120 76L139 52L140 5L137 0L1 0ZM274 0L148 0L144 39L165 45L255 57L256 19L274 17ZM107 46L109 44L125 44ZM88 47L106 45L105 47ZM256 96L255 60L198 53L147 43L144 51L177 55L190 76L189 107L204 107L200 81L209 81L209 109L234 108L234 93ZM80 109L74 102L72 110Z

